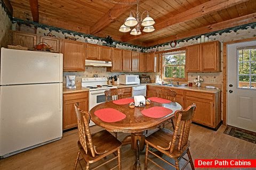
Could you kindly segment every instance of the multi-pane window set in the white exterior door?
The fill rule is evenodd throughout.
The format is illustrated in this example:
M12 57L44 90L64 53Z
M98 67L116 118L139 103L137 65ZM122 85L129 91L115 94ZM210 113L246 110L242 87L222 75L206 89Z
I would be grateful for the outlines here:
M237 49L238 88L256 89L256 47Z

